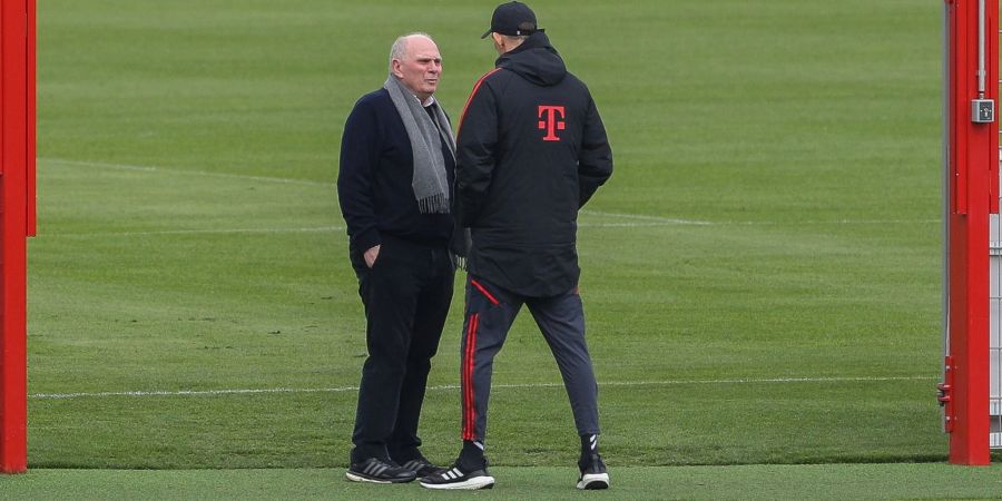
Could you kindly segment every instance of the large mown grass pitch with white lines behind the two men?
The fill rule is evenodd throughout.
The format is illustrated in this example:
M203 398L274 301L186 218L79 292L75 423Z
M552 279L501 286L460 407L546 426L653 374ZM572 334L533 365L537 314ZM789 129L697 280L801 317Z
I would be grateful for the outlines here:
M400 3L40 3L32 472L0 490L189 482L207 498L261 479L262 498L364 495L337 470L365 353L334 189L342 126L397 35L435 37L453 118L495 57L477 38L495 2ZM992 495L978 475L994 468L775 466L945 461L942 4L532 6L616 155L579 253L622 494L866 497L880 482L851 479L886 474L904 485L890 497ZM440 462L459 446L460 311L422 425ZM566 495L577 438L528 315L494 383L489 455L513 480L495 492ZM213 393L229 390L259 392ZM770 465L641 469L746 464ZM199 471L117 471L132 469ZM202 471L224 469L303 470ZM907 490L940 474L972 490ZM700 475L727 481L703 491Z

